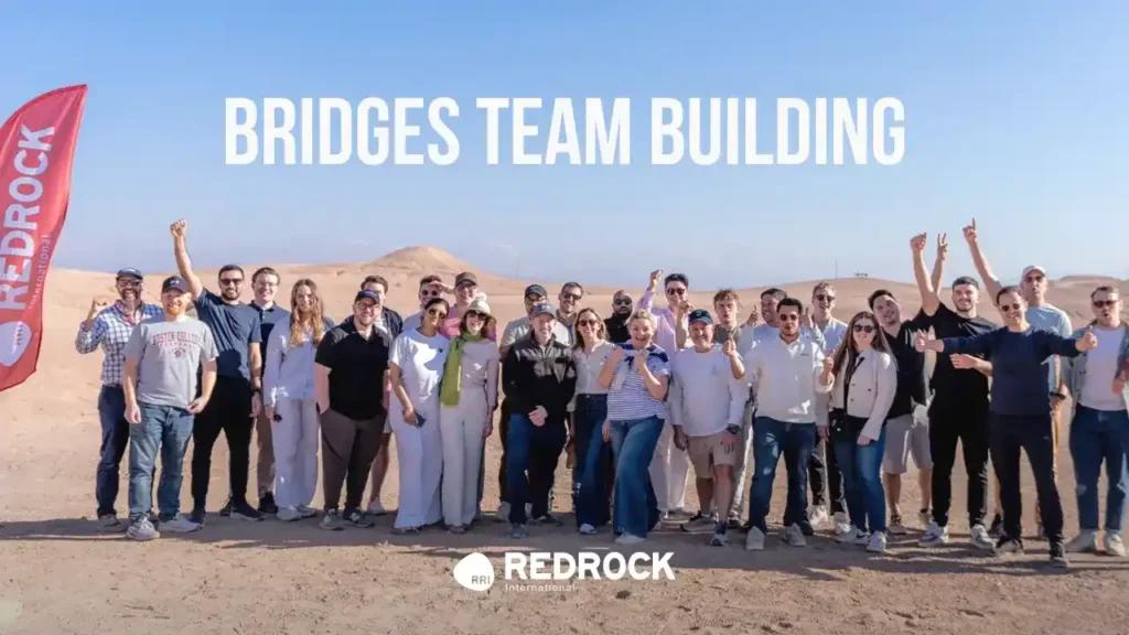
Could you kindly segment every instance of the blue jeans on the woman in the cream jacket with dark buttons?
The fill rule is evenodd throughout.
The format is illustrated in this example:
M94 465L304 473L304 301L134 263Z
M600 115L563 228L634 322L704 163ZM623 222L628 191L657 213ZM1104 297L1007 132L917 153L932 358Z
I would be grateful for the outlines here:
M886 454L886 426L866 445L858 437L835 440L835 461L843 475L847 513L865 532L886 531L886 493L882 488L882 459Z

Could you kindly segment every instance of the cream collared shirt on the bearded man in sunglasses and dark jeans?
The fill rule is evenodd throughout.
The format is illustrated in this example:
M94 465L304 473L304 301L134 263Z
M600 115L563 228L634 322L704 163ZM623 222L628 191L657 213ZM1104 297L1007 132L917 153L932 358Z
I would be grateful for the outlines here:
M745 357L745 381L756 397L756 416L789 424L816 421L816 393L830 385L820 383L823 347L812 338L791 343L782 339L759 340Z

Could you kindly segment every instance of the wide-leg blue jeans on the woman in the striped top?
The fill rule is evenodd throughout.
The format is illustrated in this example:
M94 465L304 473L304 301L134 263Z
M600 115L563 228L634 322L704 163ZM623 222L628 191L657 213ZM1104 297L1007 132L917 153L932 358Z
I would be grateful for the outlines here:
M615 456L616 533L646 538L658 522L658 498L650 482L650 461L655 456L663 419L612 421L612 453Z

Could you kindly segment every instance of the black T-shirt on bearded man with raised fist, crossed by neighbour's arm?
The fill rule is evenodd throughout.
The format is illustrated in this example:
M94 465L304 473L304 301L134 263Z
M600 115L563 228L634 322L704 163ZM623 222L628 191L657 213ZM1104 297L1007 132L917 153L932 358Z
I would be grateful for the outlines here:
M962 318L944 303L937 306L937 311L933 315L926 315L922 311L914 320L927 327L933 327L936 339L979 336L998 328L979 315ZM934 393L934 409L968 410L973 407L981 409L988 407L988 377L980 371L954 368L948 354L937 356L929 388L933 389Z

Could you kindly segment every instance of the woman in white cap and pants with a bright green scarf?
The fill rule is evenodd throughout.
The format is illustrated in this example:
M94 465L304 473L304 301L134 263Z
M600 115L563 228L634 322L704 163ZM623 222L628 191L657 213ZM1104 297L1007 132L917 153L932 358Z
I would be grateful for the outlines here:
M452 533L464 533L474 520L482 446L493 432L499 355L498 345L485 337L492 321L490 305L473 299L450 342L439 386L443 520Z

